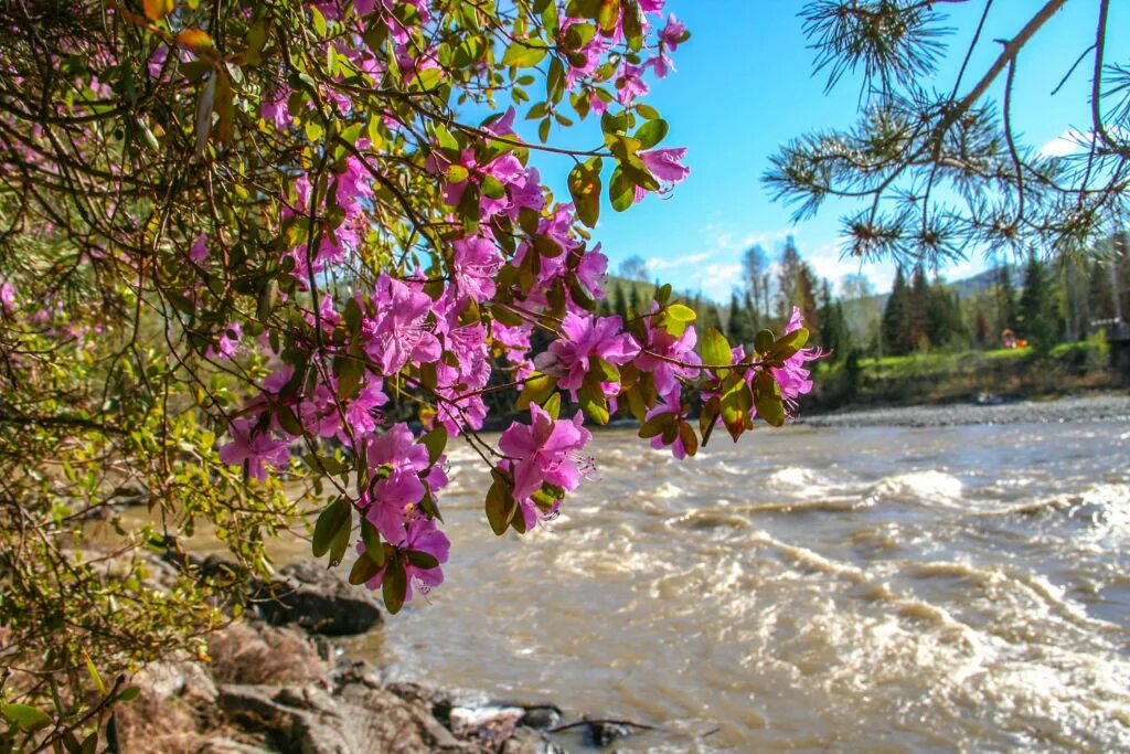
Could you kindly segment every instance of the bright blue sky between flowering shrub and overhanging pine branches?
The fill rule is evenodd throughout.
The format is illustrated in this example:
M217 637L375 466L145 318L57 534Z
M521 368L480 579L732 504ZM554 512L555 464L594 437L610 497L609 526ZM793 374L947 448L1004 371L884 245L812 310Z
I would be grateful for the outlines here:
M983 40L1015 35L1041 5L999 0ZM1115 29L1130 26L1130 8L1112 5L1107 60L1124 62L1130 40ZM802 6L801 0L668 0L668 10L687 24L694 37L675 57L678 72L652 81L646 101L671 124L664 146L688 147L692 174L666 199L650 197L623 215L605 207L596 239L603 243L611 270L637 254L649 260L652 277L679 289L729 297L731 286L739 283L741 252L753 243L773 250L792 234L819 275L838 280L862 271L877 289L889 288L894 275L889 265L860 267L855 260L841 259L843 206L829 203L816 219L793 226L789 208L774 203L760 181L781 144L805 131L843 127L855 119L859 79L845 77L825 95L825 77L812 76L812 51L806 46L797 17ZM1094 41L1097 6L1094 0L1068 2L1022 51L1014 119L1026 144L1054 149L1068 129L1088 128L1089 58L1055 97L1050 93ZM951 10L951 51L938 78L938 87L949 89L984 5L940 3L939 8ZM982 44L966 80L980 78L998 50ZM993 98L999 99L1002 80L1003 76L992 89ZM568 141L591 141L593 125L580 124ZM567 165L546 167L547 176L568 170ZM563 181L550 183L558 189L563 185ZM967 262L942 274L956 279L985 266L974 251Z

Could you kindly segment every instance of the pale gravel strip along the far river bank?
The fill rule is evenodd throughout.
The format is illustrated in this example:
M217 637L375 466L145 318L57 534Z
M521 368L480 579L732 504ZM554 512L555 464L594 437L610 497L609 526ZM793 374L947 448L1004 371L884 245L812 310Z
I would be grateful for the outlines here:
M1127 418L1130 418L1130 395L1103 393L1048 401L1002 400L985 396L976 402L967 404L873 408L806 416L800 423L815 427L936 427Z

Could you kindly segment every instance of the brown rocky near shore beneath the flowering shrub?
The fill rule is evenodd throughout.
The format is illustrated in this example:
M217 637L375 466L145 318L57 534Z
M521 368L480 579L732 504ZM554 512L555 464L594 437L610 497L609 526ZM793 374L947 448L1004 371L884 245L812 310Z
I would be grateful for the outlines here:
M193 565L227 567L217 558ZM568 721L551 702L389 682L333 641L375 629L376 599L315 563L287 566L253 590L254 610L211 636L207 655L159 662L134 678L141 694L118 713L122 751L559 754L563 734L600 747L650 729Z

